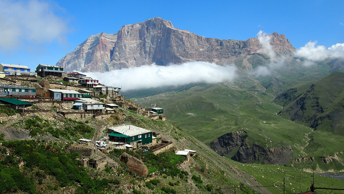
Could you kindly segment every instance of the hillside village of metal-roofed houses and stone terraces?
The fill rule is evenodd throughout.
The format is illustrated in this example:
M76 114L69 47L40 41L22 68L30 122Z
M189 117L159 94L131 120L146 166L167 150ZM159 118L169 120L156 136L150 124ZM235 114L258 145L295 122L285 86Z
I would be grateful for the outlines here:
M126 115L121 114L121 109L152 120L166 121L162 108L142 108L126 100L120 94L121 88L103 85L82 73L66 73L63 68L53 65L39 64L35 72L24 65L0 63L0 68L0 104L19 112L13 116L1 113L0 122L37 116L45 120L94 118L105 122L105 127L96 131L92 140L79 139L68 147L69 152L83 155L80 164L85 167L105 168L108 160L103 153L96 151L96 147L103 152L116 148L143 149L158 154L173 146L173 142L164 140L160 133L130 124L106 122L114 115L119 121L125 120ZM189 161L195 151L185 149L176 154L185 156ZM132 172L143 177L148 175L147 167L135 157L123 156L121 160L128 164ZM134 164L129 165L128 160L134 160Z

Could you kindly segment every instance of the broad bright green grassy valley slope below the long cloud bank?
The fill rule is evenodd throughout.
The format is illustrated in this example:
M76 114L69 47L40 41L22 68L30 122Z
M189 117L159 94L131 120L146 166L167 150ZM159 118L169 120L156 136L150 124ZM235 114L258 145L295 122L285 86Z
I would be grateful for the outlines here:
M156 104L157 107L164 108L164 115L170 122L181 126L187 133L207 145L224 134L245 131L248 135L245 141L225 154L226 157L235 160L246 157L243 161L266 163L267 157L262 154L263 152L272 153L272 157L278 157L278 154L273 154L274 152L281 152L284 154L284 160L276 163L288 164L301 157L322 157L343 151L343 138L336 138L338 133L332 133L334 130L314 132L309 124L297 124L289 118L277 115L290 101L300 98L312 83L322 79L330 71L328 63L315 67L289 63L284 71L276 69L270 77L255 80L241 76L233 82L189 85L182 90L145 95L144 98L132 100L143 107L148 108L151 104ZM278 93L279 91L282 92ZM324 92L321 95L341 96L341 93ZM325 103L322 99L320 101ZM336 102L335 99L333 101ZM341 100L338 100L338 105L340 102ZM340 106L327 105L336 113L343 112L338 108ZM319 115L324 123L319 125L319 129L321 126L334 123L330 121L333 116L326 114L326 111ZM334 124L341 126L339 122ZM291 153L288 150L291 150ZM248 156L245 152L252 153ZM289 161L285 161L285 154L290 158Z

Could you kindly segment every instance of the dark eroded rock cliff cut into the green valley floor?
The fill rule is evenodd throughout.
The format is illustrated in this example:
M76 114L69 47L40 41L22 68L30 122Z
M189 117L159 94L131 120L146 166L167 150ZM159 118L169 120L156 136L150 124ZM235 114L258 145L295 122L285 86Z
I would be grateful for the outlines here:
M249 145L245 131L230 132L210 143L211 149L221 156L230 156L241 163L288 164L292 150L285 147L266 148L258 144Z

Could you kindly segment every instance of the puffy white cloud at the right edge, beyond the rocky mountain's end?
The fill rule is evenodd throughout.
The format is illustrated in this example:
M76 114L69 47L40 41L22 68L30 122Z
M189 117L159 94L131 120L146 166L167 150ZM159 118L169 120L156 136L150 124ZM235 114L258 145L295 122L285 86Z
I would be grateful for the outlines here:
M344 58L344 43L337 43L330 48L316 45L317 41L310 41L294 53L294 57L301 58L305 65L314 64L328 58Z

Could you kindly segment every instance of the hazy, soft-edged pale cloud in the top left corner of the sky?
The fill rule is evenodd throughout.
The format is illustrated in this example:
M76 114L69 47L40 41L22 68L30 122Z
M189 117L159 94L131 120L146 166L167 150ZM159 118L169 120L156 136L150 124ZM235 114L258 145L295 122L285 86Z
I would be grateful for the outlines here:
M66 22L47 2L0 0L0 48L17 49L23 43L62 41Z

